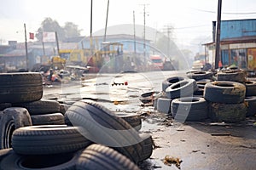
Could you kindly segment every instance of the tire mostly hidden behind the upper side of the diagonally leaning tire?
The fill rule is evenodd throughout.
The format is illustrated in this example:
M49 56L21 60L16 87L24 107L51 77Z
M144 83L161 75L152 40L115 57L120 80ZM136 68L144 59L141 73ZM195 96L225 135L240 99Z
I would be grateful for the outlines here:
M138 114L131 113L115 113L117 116L123 118L126 122L128 122L131 127L135 128L139 131L142 128L142 117Z

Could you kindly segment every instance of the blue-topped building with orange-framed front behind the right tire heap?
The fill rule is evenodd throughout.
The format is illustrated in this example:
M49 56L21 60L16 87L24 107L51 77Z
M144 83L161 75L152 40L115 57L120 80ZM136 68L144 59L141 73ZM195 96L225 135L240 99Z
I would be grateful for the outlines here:
M214 61L216 21L212 22L212 32L212 42L205 45ZM221 20L220 50L222 65L256 71L256 19Z

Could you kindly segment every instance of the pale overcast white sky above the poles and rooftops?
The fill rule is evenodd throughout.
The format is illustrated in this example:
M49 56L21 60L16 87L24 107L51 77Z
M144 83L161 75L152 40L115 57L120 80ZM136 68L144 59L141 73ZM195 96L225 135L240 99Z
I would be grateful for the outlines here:
M0 44L25 41L26 32L36 32L46 17L61 26L73 22L82 36L90 36L90 0L0 0ZM92 31L104 29L108 0L93 0ZM217 20L218 0L109 0L108 26L144 24L158 31L173 27L180 46L212 41L212 21ZM256 18L255 0L223 0L222 20Z

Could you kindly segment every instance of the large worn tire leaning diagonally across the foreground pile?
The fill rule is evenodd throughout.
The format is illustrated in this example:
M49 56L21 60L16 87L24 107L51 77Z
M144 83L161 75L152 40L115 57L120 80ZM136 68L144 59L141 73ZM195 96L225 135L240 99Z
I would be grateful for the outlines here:
M83 127L87 139L96 144L111 146L137 163L142 146L137 130L112 111L92 100L82 100L74 103L66 112L73 126Z

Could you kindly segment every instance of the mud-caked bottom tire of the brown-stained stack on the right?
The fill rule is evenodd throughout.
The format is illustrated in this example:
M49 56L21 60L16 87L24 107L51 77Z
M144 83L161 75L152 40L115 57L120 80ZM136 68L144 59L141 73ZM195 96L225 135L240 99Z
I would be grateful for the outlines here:
M210 103L209 117L212 122L241 122L247 114L245 103L240 104L221 104Z

